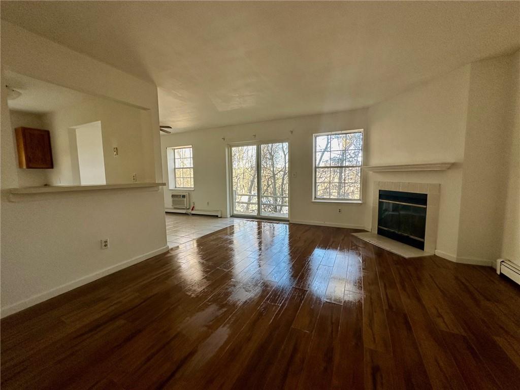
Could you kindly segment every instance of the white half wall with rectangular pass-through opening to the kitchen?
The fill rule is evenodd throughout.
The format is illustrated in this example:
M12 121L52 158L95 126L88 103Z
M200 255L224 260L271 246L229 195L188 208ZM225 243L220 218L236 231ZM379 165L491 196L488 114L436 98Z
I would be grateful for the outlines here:
M157 87L5 21L1 37L2 71L147 109L137 118L146 124L139 137L155 156L145 175L162 180ZM2 190L20 184L4 92L2 88ZM166 250L163 199L162 191L134 189L11 202L2 191L2 315ZM100 249L101 238L110 239L110 249Z

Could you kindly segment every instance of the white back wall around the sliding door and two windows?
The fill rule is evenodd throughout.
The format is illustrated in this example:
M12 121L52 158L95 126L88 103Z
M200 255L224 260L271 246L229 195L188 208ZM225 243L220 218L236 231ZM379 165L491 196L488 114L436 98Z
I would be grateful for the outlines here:
M291 221L363 228L365 215L362 204L311 201L312 135L320 132L366 128L366 126L367 110L355 110L163 135L161 145L164 178L168 178L166 149L192 145L195 189L188 191L191 194L190 201L195 202L196 209L221 210L225 215L228 203L226 146L252 140L289 140ZM296 174L296 177L293 177L293 174ZM164 191L166 207L171 206L171 193L171 190ZM342 214L337 213L338 207L342 207Z

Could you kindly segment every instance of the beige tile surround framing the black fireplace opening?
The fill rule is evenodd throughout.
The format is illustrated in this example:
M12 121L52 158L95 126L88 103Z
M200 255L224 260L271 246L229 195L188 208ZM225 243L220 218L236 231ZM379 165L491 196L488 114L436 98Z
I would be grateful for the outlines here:
M379 190L426 193L426 232L424 237L424 252L435 253L437 243L437 226L439 223L439 193L440 184L408 183L405 181L374 181L372 198L372 232L378 232Z

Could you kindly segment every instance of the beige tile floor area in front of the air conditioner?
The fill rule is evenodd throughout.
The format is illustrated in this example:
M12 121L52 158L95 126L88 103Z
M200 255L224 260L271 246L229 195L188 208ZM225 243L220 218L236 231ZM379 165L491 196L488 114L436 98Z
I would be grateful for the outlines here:
M235 224L241 218L166 213L166 240L173 247Z

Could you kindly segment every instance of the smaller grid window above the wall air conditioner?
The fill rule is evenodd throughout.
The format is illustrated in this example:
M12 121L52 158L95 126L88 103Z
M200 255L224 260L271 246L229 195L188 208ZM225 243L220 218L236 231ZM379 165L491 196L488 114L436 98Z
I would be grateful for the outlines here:
M191 146L168 148L170 188L193 188L193 153Z

